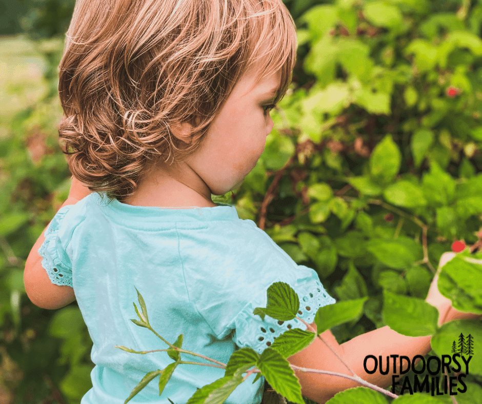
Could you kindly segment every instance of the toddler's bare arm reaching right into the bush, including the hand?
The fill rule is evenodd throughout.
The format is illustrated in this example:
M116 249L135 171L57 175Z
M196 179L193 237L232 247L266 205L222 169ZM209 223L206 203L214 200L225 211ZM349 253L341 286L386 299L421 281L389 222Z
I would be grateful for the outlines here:
M443 266L445 262L450 260L455 254L444 254L440 260L439 267ZM432 286L429 295L426 299L431 305L435 306L439 315L439 324L454 319L475 319L479 315L470 313L461 313L454 310L450 306L450 300L446 299L440 294L437 289L436 276L432 281ZM447 303L448 301L448 303ZM313 323L312 327L316 329ZM373 383L374 385L386 388L392 384L392 375L399 374L393 372L393 358L390 358L390 371L387 375L381 375L377 371L373 374L368 374L364 369L364 359L367 355L374 355L378 358L381 355L383 358L383 369L386 369L386 357L390 355L405 355L412 360L415 355L425 356L430 352L430 336L427 337L408 337L398 334L391 330L388 326L379 328L359 335L342 345L338 345L330 330L325 331L320 335L329 344L338 355L343 358L347 365L362 379ZM344 373L352 376L351 372L346 366L328 349L328 347L319 339L316 338L314 342L305 348L303 351L296 353L288 358L292 365L296 365L308 369L329 370L337 373ZM397 370L399 366L399 358L397 358ZM379 366L379 364L378 364ZM407 362L404 361L404 366ZM373 369L374 361L370 359L367 362L367 368ZM317 373L304 373L295 370L296 376L302 386L302 394L318 403L325 403L336 393L361 386L359 383L345 379L339 376L322 375ZM403 378L397 381L403 381Z

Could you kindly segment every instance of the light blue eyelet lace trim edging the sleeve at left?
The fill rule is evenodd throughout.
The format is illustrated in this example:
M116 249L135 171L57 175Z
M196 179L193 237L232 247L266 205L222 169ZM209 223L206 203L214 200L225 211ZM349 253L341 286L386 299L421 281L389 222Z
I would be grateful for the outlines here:
M58 230L69 209L70 206L65 206L54 216L45 231L45 241L38 249L38 254L42 257L42 267L47 271L53 284L72 287L72 270L60 260L56 248Z

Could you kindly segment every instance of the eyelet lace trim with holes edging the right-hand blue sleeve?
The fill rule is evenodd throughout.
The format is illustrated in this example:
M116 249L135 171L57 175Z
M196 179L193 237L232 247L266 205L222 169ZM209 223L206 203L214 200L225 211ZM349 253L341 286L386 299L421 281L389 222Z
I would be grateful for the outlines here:
M328 295L319 281L315 281L315 283L316 289L313 292L305 292L304 295L301 295L299 291L296 291L299 298L299 311L296 316L302 318L308 324L314 321L319 307L331 305L335 302L335 299ZM310 284L313 285L311 282ZM303 293L303 291L301 293ZM248 310L251 310L252 313L254 307L248 308ZM293 328L306 329L303 322L297 318L289 321L281 321L265 316L265 320L262 320L258 315L251 313L249 314L251 318L248 318L250 324L246 324L245 326L250 329L251 335L253 335L253 332L255 333L255 340L248 345L258 353L262 353L266 348L270 347L274 340L285 331Z

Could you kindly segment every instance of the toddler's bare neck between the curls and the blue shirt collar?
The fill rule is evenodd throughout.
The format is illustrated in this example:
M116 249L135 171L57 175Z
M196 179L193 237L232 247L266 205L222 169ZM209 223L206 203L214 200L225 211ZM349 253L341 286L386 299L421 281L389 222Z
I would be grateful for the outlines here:
M189 209L215 207L211 191L189 166L156 165L149 176L140 181L134 194L123 200L134 206Z

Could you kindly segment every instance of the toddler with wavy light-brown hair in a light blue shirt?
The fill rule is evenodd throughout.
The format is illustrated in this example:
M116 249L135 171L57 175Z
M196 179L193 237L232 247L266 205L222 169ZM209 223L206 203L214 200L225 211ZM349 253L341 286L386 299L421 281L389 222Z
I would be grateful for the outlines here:
M95 363L82 404L122 404L146 373L172 362L166 352L114 348L167 348L130 320L135 288L159 335L173 343L184 333L183 349L223 363L239 348L261 353L286 330L307 328L253 315L273 282L296 291L298 316L312 327L317 309L335 302L314 270L296 265L234 206L211 199L238 188L256 165L295 56L295 26L281 0L77 0L59 69L59 134L73 182L24 279L39 307L77 300ZM470 317L434 285L427 301L440 321ZM384 387L391 373L365 373L366 355L430 350L430 337L388 327L343 345L330 331L322 337L359 376ZM319 339L289 361L350 374ZM316 402L357 386L296 375ZM219 367L180 365L160 397L154 379L131 402L185 404L223 376ZM254 377L226 403L259 404L264 378Z

